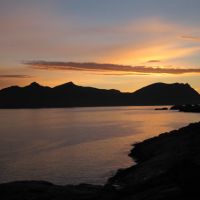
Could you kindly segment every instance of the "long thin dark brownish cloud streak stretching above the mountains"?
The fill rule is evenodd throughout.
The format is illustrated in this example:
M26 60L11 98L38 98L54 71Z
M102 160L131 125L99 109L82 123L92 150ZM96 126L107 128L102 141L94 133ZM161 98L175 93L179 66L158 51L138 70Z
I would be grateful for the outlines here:
M161 68L147 66L129 66L117 64L77 63L77 62L49 62L29 61L24 64L37 70L62 70L62 71L96 71L96 72L129 72L129 73L155 73L155 74L185 74L200 73L200 68ZM120 74L119 74L120 75Z

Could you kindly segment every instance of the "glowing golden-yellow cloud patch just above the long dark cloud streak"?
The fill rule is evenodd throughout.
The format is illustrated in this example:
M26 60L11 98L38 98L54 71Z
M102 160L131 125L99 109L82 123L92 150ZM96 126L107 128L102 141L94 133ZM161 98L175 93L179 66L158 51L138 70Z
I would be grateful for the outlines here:
M181 62L180 58L200 51L199 46L183 47L177 44L176 41L173 44L171 43L171 40L166 40L114 49L110 53L110 59L106 61L128 65L140 65L146 63L147 60L165 60L165 62L169 62L170 60L179 59Z

